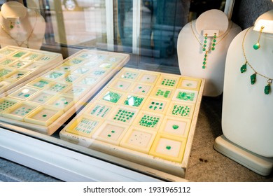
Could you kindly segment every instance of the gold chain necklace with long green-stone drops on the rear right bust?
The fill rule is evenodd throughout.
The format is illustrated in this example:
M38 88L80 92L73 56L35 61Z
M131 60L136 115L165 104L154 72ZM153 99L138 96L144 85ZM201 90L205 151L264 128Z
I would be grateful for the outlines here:
M204 54L204 61L203 61L203 65L202 65L202 68L205 69L206 68L206 64L207 64L207 57L209 55L209 51L211 50L214 50L215 49L215 46L218 44L218 43L221 43L221 41L223 41L223 39L225 38L225 36L228 35L228 33L230 32L230 30L232 29L232 25L233 23L231 23L230 25L230 29L228 29L228 31L226 31L225 33L221 34L220 36L218 36L218 38L220 38L221 36L223 36L223 38L221 38L221 40L217 41L216 42L216 34L214 34L214 40L213 40L213 43L212 43L212 46L206 50L206 48L204 47L204 45L206 44L202 44L201 41L197 38L196 34L195 34L195 31L193 30L193 21L190 21L190 28L192 29L193 31L193 35L195 36L195 39L198 41L198 43L200 43L201 47L202 47L202 50L205 52ZM207 43L207 36L204 37L204 42Z

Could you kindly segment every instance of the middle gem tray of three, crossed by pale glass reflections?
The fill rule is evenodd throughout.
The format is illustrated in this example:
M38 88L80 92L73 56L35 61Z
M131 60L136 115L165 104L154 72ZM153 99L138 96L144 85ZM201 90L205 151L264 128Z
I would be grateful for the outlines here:
M53 134L76 113L130 56L80 50L54 69L9 90L0 98L0 121Z

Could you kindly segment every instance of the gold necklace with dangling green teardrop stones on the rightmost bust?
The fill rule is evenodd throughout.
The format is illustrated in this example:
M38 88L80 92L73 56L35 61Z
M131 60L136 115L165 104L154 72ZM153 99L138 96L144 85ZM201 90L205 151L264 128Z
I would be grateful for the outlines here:
M251 29L251 27L249 27L247 30L246 30L246 34L247 32L249 31L249 29ZM243 50L243 53L244 53L244 59L245 59L245 63L241 66L241 73L244 73L246 72L246 65L248 65L253 71L254 73L251 75L251 84L253 85L256 81L256 76L262 76L263 78L266 78L267 79L267 85L265 86L265 94L269 94L270 92L270 85L272 84L272 78L269 78L261 73L258 73L257 71L255 71L255 69L253 68L253 66L251 66L251 64L248 62L248 59L246 58L246 52L244 50L244 40L246 38L246 34L244 34L244 38L243 38L243 41L241 43L241 48Z

